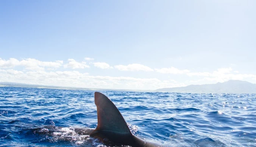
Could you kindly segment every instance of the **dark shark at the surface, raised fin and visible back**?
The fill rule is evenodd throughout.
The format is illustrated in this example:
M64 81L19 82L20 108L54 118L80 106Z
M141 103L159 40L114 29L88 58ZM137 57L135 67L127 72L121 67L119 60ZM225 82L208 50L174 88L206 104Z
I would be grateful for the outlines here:
M122 114L109 98L100 93L94 93L94 101L97 106L98 124L96 129L75 128L74 131L80 135L90 135L100 139L106 145L131 147L160 147L161 145L144 141L134 136Z

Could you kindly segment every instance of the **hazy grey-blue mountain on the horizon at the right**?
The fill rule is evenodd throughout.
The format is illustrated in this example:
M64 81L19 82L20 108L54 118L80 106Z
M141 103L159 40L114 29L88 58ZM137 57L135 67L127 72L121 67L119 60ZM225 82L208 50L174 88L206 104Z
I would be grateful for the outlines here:
M229 80L223 83L162 88L155 91L178 93L256 93L256 84L247 81Z

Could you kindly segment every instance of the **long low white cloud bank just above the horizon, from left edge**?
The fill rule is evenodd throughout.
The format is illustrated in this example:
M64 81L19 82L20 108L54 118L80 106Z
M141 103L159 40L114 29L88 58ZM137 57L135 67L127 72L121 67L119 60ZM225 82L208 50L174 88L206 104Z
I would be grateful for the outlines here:
M67 87L90 87L107 89L157 89L183 86L183 83L161 81L157 78L91 76L78 71L17 71L0 69L0 81Z

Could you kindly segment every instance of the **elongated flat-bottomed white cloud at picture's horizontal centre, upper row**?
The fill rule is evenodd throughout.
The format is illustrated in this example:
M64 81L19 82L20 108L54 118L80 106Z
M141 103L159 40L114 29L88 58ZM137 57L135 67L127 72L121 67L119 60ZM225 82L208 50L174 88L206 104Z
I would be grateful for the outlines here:
M116 69L121 70L121 71L139 71L139 70L143 70L143 71L153 71L153 69L151 69L148 66L142 65L142 64L129 64L127 66L125 65L116 65L115 66Z

